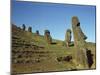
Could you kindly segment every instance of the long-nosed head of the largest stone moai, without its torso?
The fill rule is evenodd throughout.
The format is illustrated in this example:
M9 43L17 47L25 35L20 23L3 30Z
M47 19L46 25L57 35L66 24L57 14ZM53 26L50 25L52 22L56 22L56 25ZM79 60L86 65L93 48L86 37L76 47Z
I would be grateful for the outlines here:
M76 47L80 45L83 46L87 37L82 32L79 19L76 16L72 17L72 29L74 34L74 45Z

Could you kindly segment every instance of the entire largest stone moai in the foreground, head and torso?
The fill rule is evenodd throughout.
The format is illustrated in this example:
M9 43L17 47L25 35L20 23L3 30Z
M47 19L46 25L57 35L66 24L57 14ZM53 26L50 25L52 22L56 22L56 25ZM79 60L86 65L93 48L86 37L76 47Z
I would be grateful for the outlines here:
M88 69L87 55L86 55L86 36L81 30L80 22L77 16L72 17L72 30L74 35L74 46L76 47L75 58L78 69Z

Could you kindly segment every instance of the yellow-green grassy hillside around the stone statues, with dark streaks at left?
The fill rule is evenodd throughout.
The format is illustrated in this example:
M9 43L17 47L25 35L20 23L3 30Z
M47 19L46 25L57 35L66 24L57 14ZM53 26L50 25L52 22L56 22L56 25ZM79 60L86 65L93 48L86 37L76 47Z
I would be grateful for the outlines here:
M48 44L43 35L37 36L12 25L12 73L76 70L73 61L77 49L74 46L67 48L61 40L53 39L53 42L56 44ZM94 54L92 68L95 68L95 44L87 43L86 46ZM72 59L57 60L66 56Z

